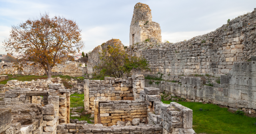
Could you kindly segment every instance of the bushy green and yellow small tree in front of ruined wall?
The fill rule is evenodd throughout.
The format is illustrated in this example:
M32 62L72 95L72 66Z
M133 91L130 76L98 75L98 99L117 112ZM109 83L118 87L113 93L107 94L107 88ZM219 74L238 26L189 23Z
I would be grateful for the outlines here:
M130 76L131 71L149 70L145 58L130 56L118 45L108 46L100 53L100 62L93 67L94 77L104 79L105 76L122 78Z

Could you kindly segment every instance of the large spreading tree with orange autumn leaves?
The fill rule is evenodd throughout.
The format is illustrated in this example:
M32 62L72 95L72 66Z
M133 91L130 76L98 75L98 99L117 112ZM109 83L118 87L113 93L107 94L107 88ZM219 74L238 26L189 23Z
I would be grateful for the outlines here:
M15 67L23 70L24 64L37 66L45 70L48 78L56 63L72 58L71 54L84 47L76 22L59 16L50 18L47 13L12 26L10 33L10 38L3 42L5 50L24 54Z

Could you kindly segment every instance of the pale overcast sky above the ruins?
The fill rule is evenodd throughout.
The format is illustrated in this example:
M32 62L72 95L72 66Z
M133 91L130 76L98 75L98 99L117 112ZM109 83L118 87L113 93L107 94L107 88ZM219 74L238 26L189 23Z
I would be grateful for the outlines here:
M120 39L129 46L129 28L136 3L149 5L152 20L160 24L162 41L183 41L206 34L227 20L252 12L256 0L0 0L0 46L9 38L12 25L18 25L40 13L75 20L82 29L84 52ZM0 49L0 54L6 54Z

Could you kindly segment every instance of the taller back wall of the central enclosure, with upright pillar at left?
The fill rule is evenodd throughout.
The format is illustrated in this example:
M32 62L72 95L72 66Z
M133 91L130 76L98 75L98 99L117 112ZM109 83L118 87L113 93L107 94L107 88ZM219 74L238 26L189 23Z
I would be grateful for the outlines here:
M139 100L144 88L144 76L125 79L104 77L104 80L84 80L85 110L94 112L93 100Z

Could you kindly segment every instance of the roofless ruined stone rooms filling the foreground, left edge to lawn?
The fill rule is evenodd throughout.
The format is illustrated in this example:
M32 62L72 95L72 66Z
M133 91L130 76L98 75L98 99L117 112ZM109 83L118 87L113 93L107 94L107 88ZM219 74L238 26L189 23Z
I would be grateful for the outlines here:
M125 100L128 92L119 100L111 100L111 97L116 99L115 96L124 94L125 91L121 90L129 90L127 80L113 77L105 77L102 81L84 80L85 95L92 95L86 92L99 91L90 90L92 87L106 90L108 86L110 88L106 92L109 93L104 94L112 93L112 96L104 96L110 100L98 100L95 96L98 92L85 97L84 108L94 113L95 125L83 121L69 123L70 92L62 84L49 84L49 91L31 91L26 88L6 91L4 100L8 101L0 106L0 133L194 133L192 110L175 102L163 104L159 89L144 87L143 75L132 75L128 79L132 84L129 93L133 95L133 100ZM111 85L106 85L107 81ZM92 97L93 106L90 104ZM87 99L89 103L86 103Z

